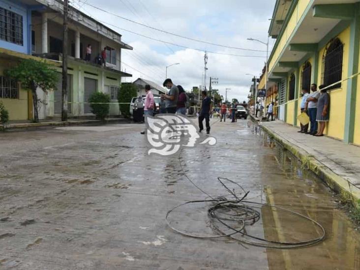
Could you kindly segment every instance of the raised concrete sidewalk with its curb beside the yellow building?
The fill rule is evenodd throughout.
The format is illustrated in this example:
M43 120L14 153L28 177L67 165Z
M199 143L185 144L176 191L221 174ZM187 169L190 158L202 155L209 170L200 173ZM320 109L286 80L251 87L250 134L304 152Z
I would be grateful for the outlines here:
M260 125L343 199L351 200L360 209L360 147L298 133L298 127L282 121Z

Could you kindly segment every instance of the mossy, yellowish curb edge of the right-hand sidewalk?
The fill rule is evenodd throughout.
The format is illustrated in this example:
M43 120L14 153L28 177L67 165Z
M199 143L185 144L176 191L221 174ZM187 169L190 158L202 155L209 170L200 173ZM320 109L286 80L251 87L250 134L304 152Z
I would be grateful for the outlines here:
M347 202L350 201L356 209L360 210L360 190L357 187L352 187L346 179L335 174L329 167L325 166L315 157L308 154L305 150L295 146L286 139L283 139L270 128L263 125L260 126L286 150L289 150L293 155L295 155L300 160L302 166L306 166L306 168L315 173L331 189L336 191L342 200Z

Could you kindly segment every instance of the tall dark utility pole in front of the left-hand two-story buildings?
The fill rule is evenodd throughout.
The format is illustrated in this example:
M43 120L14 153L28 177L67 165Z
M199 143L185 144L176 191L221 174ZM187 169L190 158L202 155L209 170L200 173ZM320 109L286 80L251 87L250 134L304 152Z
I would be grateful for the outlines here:
M67 121L67 12L68 0L63 5L63 38L62 38L62 112L61 121Z

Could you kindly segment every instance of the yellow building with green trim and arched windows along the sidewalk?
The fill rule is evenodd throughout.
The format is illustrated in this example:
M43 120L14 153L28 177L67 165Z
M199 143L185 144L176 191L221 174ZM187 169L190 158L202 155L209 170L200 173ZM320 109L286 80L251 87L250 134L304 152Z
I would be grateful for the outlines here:
M300 125L301 89L325 85L326 134L360 145L360 1L277 0L269 34L276 41L266 102L277 102L278 119Z

